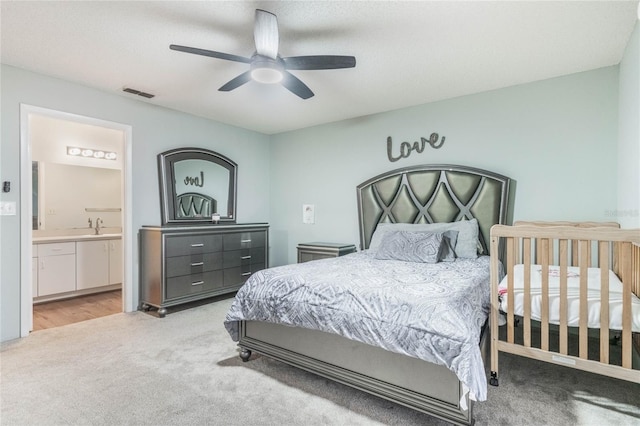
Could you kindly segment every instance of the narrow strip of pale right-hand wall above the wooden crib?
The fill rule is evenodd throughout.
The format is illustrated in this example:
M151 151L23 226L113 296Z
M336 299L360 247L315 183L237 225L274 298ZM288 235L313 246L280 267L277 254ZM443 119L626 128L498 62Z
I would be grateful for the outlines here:
M640 228L640 21L620 62L618 209L612 220Z

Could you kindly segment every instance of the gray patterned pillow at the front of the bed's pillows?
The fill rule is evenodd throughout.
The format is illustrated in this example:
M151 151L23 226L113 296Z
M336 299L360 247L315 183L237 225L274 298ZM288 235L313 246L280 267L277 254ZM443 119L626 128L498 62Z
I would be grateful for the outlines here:
M382 260L437 263L443 237L442 232L387 232L374 257Z

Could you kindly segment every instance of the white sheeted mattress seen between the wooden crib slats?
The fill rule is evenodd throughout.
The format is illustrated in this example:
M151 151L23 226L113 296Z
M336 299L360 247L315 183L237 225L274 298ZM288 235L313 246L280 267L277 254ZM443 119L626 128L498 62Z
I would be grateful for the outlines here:
M600 269L588 268L588 327L600 328ZM524 313L524 265L514 266L515 314ZM500 306L507 312L507 277L498 287ZM569 267L567 279L568 325L578 327L580 321L580 268ZM541 320L542 267L531 265L531 318ZM640 299L632 294L632 331L640 333ZM560 323L560 267L549 266L549 322ZM609 271L609 329L622 330L622 281Z

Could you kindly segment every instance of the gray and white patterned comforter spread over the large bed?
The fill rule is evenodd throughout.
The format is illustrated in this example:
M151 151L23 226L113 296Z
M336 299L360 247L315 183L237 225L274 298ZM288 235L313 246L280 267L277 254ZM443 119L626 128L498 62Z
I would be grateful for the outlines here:
M225 319L342 335L447 366L486 400L479 340L489 315L489 257L436 264L377 260L367 251L253 274Z

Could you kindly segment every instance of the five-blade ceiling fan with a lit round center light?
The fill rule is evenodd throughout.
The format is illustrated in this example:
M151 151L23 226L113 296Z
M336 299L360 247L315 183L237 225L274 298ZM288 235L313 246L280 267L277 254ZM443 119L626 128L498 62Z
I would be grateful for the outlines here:
M177 44L172 44L169 48L181 52L249 64L248 71L233 78L218 89L223 92L236 89L253 79L260 83L281 83L295 95L302 99L309 99L313 96L311 89L291 74L289 70L330 70L356 66L356 58L353 56L316 55L282 58L278 54L278 20L276 15L265 10L256 9L253 37L256 51L250 58Z

